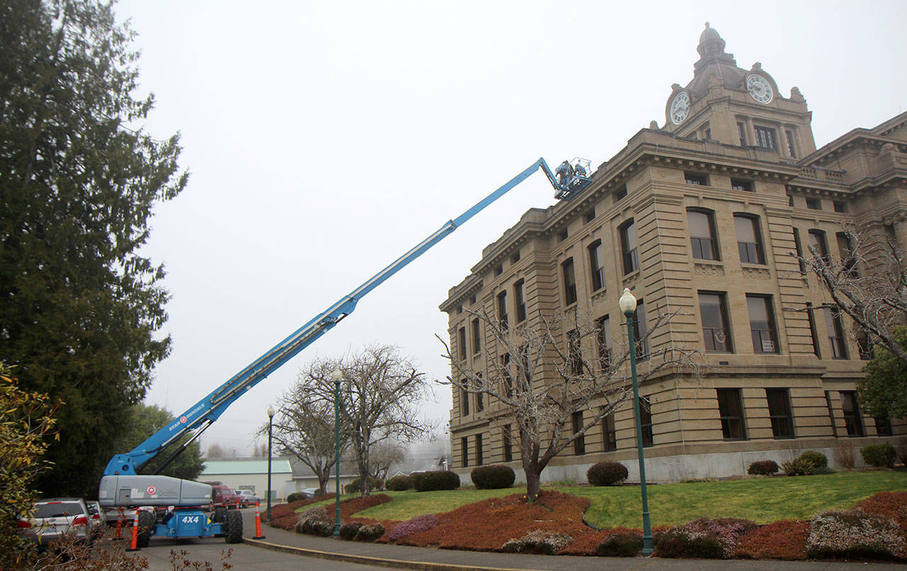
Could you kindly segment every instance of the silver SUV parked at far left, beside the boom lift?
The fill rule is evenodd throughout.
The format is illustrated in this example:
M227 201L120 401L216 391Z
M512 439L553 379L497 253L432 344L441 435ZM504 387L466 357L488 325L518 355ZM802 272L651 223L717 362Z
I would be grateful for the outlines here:
M78 541L90 541L90 518L82 498L45 498L35 502L34 516L19 519L16 527L38 547L47 547L67 534Z

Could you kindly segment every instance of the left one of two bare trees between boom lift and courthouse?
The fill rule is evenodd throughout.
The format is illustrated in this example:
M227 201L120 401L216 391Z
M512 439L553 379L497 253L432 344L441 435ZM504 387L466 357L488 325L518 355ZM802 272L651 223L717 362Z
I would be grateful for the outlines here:
M296 381L278 400L272 434L278 450L292 454L305 464L318 479L318 489L325 492L327 480L336 464L334 433L334 399L324 398L323 392L313 391L319 383L330 382L336 361L318 360L309 363ZM258 429L258 435L268 436L268 425ZM349 446L349 433L341 431L341 453Z

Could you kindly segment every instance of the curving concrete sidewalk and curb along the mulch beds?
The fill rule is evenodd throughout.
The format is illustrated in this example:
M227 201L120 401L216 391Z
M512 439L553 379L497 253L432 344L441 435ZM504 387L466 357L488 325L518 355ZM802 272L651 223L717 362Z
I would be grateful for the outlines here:
M264 508L261 508L264 512ZM426 571L490 570L515 571L521 569L551 569L551 571L580 571L607 569L670 569L697 571L699 569L721 569L756 571L762 569L779 571L816 571L828 569L846 571L866 569L870 566L892 568L890 564L824 563L797 561L745 561L739 559L660 559L658 557L577 557L577 556L532 556L509 553L488 553L484 551L454 551L426 547L392 546L375 543L360 543L332 537L313 537L284 531L262 525L265 539L252 539L255 535L255 509L243 510L244 542L250 546L274 549L298 556L317 557L333 561L344 561L366 566L381 566L394 569L424 569Z

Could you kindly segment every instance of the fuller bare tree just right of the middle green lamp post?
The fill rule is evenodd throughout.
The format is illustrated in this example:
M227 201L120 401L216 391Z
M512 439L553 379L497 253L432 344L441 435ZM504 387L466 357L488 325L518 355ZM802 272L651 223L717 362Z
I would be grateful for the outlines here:
M431 430L431 425L418 417L418 403L431 389L425 373L420 373L395 346L366 347L340 360L339 366L344 376L340 385L340 430L348 435L349 450L363 482L362 494L367 496L373 447L388 439L415 440ZM320 369L307 387L331 406L332 370Z

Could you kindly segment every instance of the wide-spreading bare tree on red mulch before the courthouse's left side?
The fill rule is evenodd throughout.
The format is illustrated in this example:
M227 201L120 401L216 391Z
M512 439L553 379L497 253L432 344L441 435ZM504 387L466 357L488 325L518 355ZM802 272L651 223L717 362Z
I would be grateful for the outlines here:
M464 392L500 402L501 416L515 423L526 477L526 501L532 502L541 491L541 472L549 462L607 414L631 402L629 346L602 344L605 337L601 324L580 311L561 318L540 313L512 328L485 312L470 313L482 322L486 332L484 351L497 358L488 360L484 375L455 358L441 340L455 377L447 380ZM643 357L640 383L666 369L698 374L697 350L672 345L648 351L652 335L676 315L676 311L659 311L638 340L635 350ZM595 347L595 356L583 353L584 346ZM573 414L580 411L584 413L582 426L572 431Z

